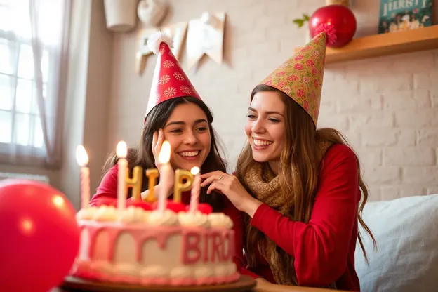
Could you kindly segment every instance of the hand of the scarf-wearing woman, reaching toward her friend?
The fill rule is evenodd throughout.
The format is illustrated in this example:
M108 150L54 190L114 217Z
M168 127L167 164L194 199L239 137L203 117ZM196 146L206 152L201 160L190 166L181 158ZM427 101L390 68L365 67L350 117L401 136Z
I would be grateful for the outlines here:
M225 194L237 209L247 213L251 218L258 206L262 204L261 201L251 197L251 194L246 192L245 188L234 175L229 175L222 171L212 171L211 173L202 174L201 178L204 179L201 183L201 187L210 185L207 194L210 194L213 190L218 190Z

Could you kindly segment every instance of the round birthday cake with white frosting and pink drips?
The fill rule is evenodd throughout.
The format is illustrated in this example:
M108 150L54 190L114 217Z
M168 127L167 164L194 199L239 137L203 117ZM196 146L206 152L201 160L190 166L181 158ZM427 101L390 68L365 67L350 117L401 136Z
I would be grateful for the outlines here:
M223 213L138 206L82 208L74 277L145 286L213 285L239 279L232 220Z

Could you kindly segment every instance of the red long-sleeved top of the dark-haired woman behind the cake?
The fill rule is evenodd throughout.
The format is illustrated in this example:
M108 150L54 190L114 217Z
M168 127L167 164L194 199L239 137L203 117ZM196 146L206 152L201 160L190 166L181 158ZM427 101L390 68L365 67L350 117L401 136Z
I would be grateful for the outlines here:
M91 199L90 206L100 206L102 204L114 204L114 198L117 198L117 164L114 165L102 178L97 192ZM111 199L111 200L107 200ZM130 200L129 198L128 200ZM253 272L246 270L244 267L244 216L234 205L224 196L225 208L223 213L228 215L233 221L234 239L236 244L236 255L234 256L234 263L237 265L237 270L242 274L248 274L252 277L258 277ZM181 201L188 205L190 204L190 192L183 192L181 194Z

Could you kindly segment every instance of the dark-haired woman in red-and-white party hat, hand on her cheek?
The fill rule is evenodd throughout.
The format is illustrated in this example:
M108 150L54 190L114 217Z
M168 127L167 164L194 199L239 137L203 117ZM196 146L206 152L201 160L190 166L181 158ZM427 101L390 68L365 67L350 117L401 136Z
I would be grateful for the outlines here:
M128 169L133 171L135 166L144 170L157 168L160 173L158 161L161 145L166 140L171 146L169 163L173 170L177 168L190 171L197 166L201 173L211 171L226 171L225 160L220 155L215 131L213 130L213 115L194 86L181 69L178 61L171 53L166 43L161 42L155 69L152 89L147 105L145 121L140 137L138 149L130 149L126 159ZM158 51L158 50L157 50ZM105 175L102 178L96 194L90 201L91 206L102 204L116 204L117 198L117 156L112 155L105 164ZM149 199L148 177L142 172L143 201ZM173 197L174 171L169 172L166 180L158 178L154 186L154 194L165 192L168 197ZM166 185L163 182L166 181ZM234 230L236 254L233 255L237 268L243 262L243 213L220 192L206 194L207 187L201 187L199 203L210 205L213 212L221 212L232 220ZM131 190L130 190L131 191ZM178 210L173 210L175 205L170 202L166 208L173 211L184 210L190 204L190 191L182 192L181 202L176 202ZM131 196L128 195L128 201ZM129 203L129 202L128 202ZM201 210L200 210L201 211ZM206 213L211 212L207 210ZM220 214L219 214L220 215Z

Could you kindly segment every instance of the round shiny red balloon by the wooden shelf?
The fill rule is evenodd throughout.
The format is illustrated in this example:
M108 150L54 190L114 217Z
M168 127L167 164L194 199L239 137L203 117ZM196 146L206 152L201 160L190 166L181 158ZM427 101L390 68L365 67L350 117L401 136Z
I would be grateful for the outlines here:
M309 20L310 35L316 36L318 27L323 24L336 29L336 41L333 44L327 44L333 48L348 44L353 39L357 29L354 13L344 5L328 5L318 8Z

